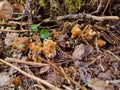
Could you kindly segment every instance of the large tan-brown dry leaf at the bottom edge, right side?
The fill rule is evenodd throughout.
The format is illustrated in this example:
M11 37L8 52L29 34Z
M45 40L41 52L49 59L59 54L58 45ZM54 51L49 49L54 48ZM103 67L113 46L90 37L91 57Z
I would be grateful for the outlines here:
M88 86L93 90L115 90L112 85L108 85L105 81L98 78L88 79Z

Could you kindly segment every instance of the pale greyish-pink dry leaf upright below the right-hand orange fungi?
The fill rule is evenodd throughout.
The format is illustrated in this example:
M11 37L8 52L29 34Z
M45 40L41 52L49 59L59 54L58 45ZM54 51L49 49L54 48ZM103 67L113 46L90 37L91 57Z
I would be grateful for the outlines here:
M72 57L73 57L73 59L81 60L83 58L84 53L85 53L84 44L80 44L75 47Z

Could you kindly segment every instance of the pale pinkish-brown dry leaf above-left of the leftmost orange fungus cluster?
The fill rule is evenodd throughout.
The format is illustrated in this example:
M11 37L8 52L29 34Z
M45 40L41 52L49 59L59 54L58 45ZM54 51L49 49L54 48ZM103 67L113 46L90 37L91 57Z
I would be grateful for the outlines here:
M11 46L14 39L18 38L18 35L19 35L18 33L7 33L5 38L5 44L7 46Z

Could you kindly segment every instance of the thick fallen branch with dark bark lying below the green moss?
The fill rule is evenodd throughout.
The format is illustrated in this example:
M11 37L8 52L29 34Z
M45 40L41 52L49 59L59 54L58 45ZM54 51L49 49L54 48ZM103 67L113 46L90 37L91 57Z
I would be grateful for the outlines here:
M94 16L91 14L78 13L78 14L69 14L69 15L64 15L64 16L57 16L55 18L44 19L42 23L55 22L55 21L60 21L64 19L83 19L83 17L86 19L93 19L97 21L119 20L118 16Z

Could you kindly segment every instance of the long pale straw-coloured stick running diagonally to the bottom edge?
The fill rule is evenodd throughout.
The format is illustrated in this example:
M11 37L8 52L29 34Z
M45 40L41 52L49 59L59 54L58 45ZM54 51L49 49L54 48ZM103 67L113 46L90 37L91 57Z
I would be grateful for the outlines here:
M36 77L36 76L33 76L33 75L31 75L31 74L26 73L25 71L21 70L20 68L14 66L14 65L12 65L12 64L10 64L9 62L6 62L5 60L0 59L0 61L1 61L2 63L4 63L4 64L6 64L6 65L8 65L8 66L10 66L10 67L12 67L12 68L14 68L15 70L19 71L21 74L23 74L23 75L25 75L25 76L33 79L33 80L36 80L37 82L40 82L40 83L48 86L48 87L51 88L52 90L62 90L62 89L54 86L53 84L51 84L51 83L49 83L49 82L47 82L47 81L45 81L45 80L43 80L43 79L40 79L40 78L38 78L38 77Z

